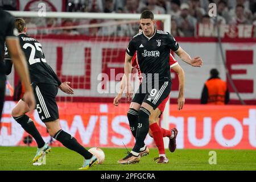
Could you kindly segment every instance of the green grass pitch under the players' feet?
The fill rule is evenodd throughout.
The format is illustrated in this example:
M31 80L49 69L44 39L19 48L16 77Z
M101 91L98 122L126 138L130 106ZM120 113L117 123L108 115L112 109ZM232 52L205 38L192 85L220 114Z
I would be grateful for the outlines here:
M87 148L89 149L89 148ZM166 150L168 164L156 164L158 156L155 148L150 148L150 155L143 156L138 164L122 165L117 160L126 154L125 148L102 148L105 162L89 170L105 171L163 171L163 170L256 170L256 153L254 150L214 150L217 164L209 164L211 150ZM77 170L82 165L82 156L64 147L53 147L47 155L46 165L32 166L35 147L0 147L0 170Z

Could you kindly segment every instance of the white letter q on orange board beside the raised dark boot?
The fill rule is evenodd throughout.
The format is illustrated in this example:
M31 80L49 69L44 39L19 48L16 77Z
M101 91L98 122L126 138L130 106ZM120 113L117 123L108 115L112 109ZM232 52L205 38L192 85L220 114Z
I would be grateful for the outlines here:
M184 118L170 116L169 125L170 124L176 125L176 129L179 131L179 135L177 135L177 138L176 138L177 148L184 148Z

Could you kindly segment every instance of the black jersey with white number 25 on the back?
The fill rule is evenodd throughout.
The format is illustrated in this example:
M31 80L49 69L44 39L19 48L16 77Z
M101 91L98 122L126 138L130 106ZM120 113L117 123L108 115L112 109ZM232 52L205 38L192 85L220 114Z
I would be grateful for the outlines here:
M36 39L31 38L26 34L19 34L18 37L20 47L26 56L32 86L35 86L38 83L53 84L59 86L61 81L57 77L56 73L52 70L52 68L47 64L42 50L42 45ZM10 61L9 53L7 48L5 49L6 67L10 68L7 63L7 61Z

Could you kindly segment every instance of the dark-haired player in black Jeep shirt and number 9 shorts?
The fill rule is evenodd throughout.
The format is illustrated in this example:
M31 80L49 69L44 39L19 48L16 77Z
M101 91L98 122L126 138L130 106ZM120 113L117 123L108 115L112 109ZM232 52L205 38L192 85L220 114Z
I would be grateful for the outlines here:
M148 118L151 111L156 109L171 91L170 49L188 64L196 67L201 67L203 64L200 57L191 59L171 34L154 28L154 14L151 11L142 12L140 23L143 31L131 39L125 55L126 97L128 100L133 95L130 73L131 59L136 51L139 68L144 75L143 82L139 85L127 112L130 126L135 129L132 133L136 136L136 142L133 150L128 152L125 158L118 160L120 164L138 163L141 158L140 153L147 150L144 139L149 129Z

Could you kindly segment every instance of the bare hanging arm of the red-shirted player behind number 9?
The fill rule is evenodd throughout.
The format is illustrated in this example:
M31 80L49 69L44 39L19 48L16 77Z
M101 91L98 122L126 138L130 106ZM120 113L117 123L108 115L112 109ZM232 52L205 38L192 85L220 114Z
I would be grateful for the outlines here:
M179 97L177 98L178 110L181 110L185 104L184 97L184 85L185 85L185 73L179 64L176 64L172 69L177 73L179 77Z

